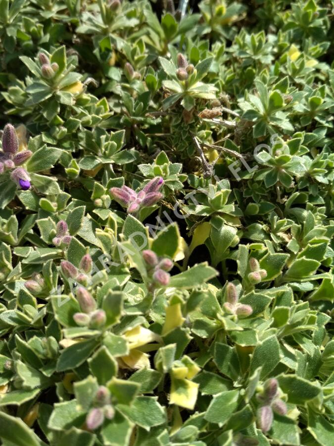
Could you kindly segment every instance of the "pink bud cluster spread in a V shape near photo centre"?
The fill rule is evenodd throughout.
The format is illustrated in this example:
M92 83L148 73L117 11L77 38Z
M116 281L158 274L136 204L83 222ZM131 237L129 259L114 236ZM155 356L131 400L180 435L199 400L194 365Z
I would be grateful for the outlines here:
M163 182L161 176L156 176L138 193L128 186L112 187L109 192L117 203L127 208L128 214L137 214L141 208L153 206L161 200L163 195L159 190Z

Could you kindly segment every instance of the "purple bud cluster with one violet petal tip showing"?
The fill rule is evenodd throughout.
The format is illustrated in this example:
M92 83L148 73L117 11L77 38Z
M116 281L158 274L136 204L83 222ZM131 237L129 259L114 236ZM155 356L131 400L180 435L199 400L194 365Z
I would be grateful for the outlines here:
M0 152L0 175L10 173L10 178L22 190L30 188L30 177L26 169L21 166L32 156L30 150L19 152L19 142L15 127L6 124L2 132L2 152Z

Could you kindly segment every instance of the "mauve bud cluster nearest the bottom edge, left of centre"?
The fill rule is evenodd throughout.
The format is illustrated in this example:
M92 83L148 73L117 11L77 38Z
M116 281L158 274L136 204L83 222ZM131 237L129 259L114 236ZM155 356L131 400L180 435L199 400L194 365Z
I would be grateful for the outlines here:
M90 431L94 431L103 424L104 419L114 418L115 410L111 405L110 391L100 386L94 396L94 407L88 412L86 426Z

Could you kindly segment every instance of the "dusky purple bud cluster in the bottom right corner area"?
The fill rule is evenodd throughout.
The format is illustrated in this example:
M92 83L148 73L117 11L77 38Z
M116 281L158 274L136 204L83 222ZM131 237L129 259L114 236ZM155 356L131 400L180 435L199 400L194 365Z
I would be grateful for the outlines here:
M262 432L268 432L274 419L274 412L286 414L286 403L278 396L278 382L271 378L264 383L263 390L256 394L261 406L257 410L257 423Z

